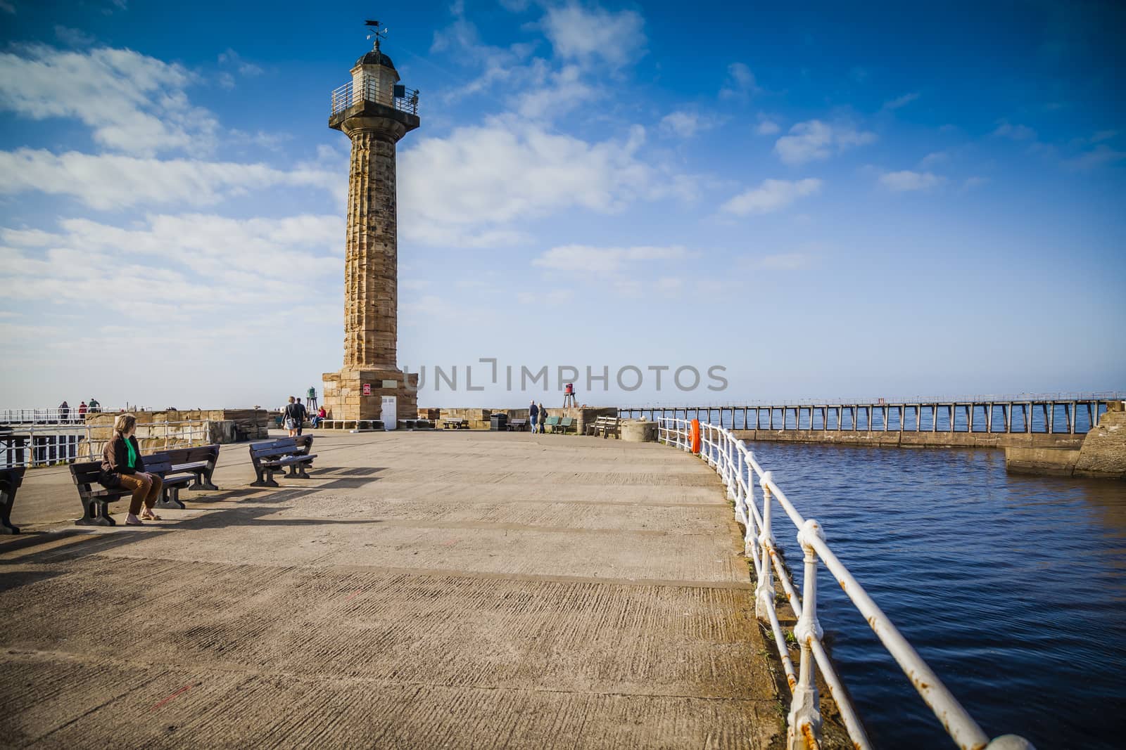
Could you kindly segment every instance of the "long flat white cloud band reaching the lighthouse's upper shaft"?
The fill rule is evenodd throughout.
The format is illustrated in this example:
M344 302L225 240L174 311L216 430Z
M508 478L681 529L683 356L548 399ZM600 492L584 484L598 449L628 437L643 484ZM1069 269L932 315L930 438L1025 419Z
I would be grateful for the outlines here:
M70 196L91 208L108 210L150 204L209 206L232 195L274 186L347 189L342 172L320 165L278 170L266 164L158 160L78 152L0 151L0 195L38 190Z

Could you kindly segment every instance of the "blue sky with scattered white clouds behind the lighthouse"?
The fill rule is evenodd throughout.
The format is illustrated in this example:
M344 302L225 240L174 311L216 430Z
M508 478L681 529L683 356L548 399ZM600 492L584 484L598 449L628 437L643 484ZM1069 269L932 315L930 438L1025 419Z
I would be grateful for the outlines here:
M421 92L399 360L459 371L425 405L558 400L466 391L480 358L607 404L1126 380L1120 6L168 8L0 0L6 405L276 405L339 369L329 94L373 13Z

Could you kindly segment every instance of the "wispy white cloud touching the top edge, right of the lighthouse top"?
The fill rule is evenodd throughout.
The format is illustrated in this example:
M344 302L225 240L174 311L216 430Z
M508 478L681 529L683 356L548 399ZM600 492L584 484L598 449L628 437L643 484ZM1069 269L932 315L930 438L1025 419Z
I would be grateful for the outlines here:
M633 10L614 12L571 3L548 8L540 26L560 57L583 64L600 60L622 67L645 48L645 19Z

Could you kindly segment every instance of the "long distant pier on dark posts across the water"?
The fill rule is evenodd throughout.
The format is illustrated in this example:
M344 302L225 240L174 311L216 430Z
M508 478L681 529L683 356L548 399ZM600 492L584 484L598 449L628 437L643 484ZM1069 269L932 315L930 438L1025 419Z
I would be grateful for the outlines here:
M742 406L634 406L618 412L626 418L694 418L731 430L1074 435L1090 431L1106 413L1108 403L1124 398L1126 395L1119 392L1057 394L912 401L878 399Z

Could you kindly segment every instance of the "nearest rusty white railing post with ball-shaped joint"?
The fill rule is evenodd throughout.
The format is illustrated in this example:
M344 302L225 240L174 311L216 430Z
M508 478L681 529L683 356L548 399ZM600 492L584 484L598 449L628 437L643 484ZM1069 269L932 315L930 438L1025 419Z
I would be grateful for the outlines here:
M787 750L815 750L821 740L821 704L817 696L816 665L813 661L814 640L821 641L823 632L817 622L817 553L811 542L816 536L822 542L825 535L821 525L810 518L797 532L797 543L805 552L805 575L802 577L802 615L794 626L794 636L802 647L802 661L798 666L797 686L789 704L787 717Z

